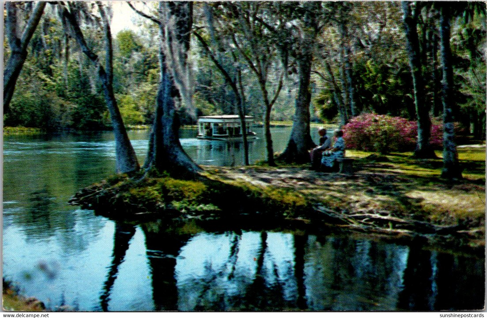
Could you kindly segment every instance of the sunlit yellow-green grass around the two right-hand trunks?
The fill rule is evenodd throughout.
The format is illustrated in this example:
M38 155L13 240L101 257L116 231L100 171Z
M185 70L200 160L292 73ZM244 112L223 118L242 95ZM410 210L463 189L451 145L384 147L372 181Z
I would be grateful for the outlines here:
M416 208L427 219L435 222L454 223L460 220L482 219L485 215L485 148L458 148L463 180L450 182L440 179L443 167L442 153L437 151L438 159L414 159L412 153L393 153L387 155L388 161L367 161L370 153L347 151L347 155L362 159L362 164L371 172L392 173L402 176L400 182L393 182L391 197L399 194L414 199ZM411 205L411 207L412 207ZM399 208L398 205L397 208Z

